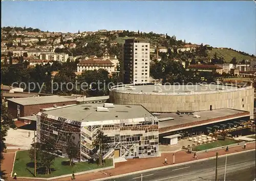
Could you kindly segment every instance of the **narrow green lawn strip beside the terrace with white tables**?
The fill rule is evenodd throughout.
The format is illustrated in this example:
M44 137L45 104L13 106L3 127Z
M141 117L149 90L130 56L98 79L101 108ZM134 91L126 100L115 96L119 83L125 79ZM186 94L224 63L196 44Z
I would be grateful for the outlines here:
M211 148L217 148L221 146L231 145L235 143L240 143L241 141L238 140L231 140L231 139L225 139L225 140L218 140L217 142L207 143L203 145L193 146L192 151L202 151L202 150L208 150Z

